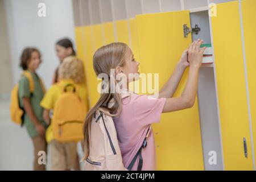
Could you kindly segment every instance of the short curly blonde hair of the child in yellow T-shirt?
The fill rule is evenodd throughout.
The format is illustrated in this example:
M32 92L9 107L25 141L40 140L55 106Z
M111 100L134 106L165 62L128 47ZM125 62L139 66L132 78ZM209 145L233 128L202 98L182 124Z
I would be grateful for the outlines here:
M60 79L72 79L76 84L85 81L84 64L76 56L66 57L59 68Z

